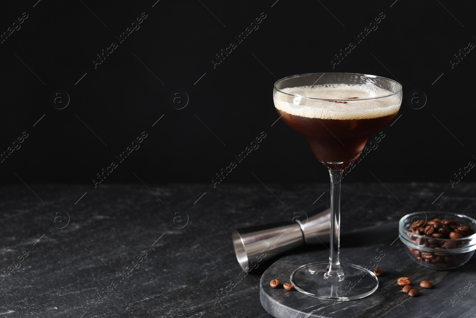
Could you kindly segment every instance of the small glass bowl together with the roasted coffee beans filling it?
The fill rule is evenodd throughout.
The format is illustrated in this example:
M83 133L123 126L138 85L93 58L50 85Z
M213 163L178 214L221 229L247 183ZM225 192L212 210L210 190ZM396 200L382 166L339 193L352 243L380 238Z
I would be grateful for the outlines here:
M398 224L400 240L416 263L433 269L465 264L476 249L476 220L450 212L415 212Z

